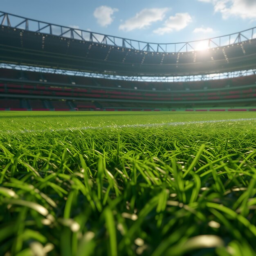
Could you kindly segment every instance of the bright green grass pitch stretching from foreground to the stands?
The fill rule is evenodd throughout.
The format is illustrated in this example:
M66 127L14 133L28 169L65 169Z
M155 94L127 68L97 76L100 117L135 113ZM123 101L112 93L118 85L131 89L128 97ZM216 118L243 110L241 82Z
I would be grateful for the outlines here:
M253 112L0 112L3 256L253 256L255 195Z

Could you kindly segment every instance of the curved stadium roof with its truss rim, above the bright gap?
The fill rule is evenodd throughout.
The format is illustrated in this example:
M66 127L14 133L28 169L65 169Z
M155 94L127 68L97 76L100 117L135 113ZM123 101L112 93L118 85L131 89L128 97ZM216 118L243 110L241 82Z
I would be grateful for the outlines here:
M0 62L123 76L203 75L256 66L256 28L207 40L155 44L0 12ZM195 43L207 43L195 50Z

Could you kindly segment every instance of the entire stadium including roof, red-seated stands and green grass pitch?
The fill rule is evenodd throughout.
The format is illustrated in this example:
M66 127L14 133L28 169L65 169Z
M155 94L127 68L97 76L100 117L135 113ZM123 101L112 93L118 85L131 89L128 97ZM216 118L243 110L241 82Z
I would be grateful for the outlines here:
M255 255L256 27L0 22L1 255Z

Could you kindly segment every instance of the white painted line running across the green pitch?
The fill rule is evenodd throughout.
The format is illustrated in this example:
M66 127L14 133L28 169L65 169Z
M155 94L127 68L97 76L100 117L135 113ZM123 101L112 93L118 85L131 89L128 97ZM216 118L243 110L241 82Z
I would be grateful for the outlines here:
M210 124L210 123L224 123L224 122L237 122L237 121L253 121L256 118L240 118L240 119L224 119L224 120L207 120L207 121L186 121L186 122L168 122L168 123L158 123L158 124L124 124L124 125L112 125L112 126L85 126L85 127L72 127L72 128L62 128L62 129L44 129L44 130L0 130L1 134L17 134L17 133L41 133L41 132L64 132L64 131L76 131L76 130L102 130L106 128L138 128L138 127L161 127L161 126L182 126L189 124Z

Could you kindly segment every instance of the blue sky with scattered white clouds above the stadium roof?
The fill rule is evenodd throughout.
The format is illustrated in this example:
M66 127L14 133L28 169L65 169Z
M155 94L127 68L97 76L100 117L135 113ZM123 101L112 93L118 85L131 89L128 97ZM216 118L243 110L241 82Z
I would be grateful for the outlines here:
M211 38L256 26L256 0L1 0L0 8L152 43Z

